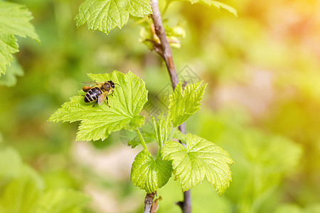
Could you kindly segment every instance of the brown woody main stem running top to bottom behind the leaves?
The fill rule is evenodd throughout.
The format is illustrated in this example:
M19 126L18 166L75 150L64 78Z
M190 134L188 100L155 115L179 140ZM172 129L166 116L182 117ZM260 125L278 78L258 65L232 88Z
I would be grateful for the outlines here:
M154 43L154 50L161 56L161 58L164 59L164 62L166 62L166 69L169 72L172 87L176 88L176 84L178 84L178 75L176 74L174 58L172 56L169 41L168 38L166 38L166 32L164 31L164 26L162 24L158 0L151 0L151 9L151 18L154 22L154 31L160 40L160 43ZM186 133L186 124L181 124L178 129L182 133ZM183 144L183 146L185 145ZM183 202L180 202L179 206L181 207L183 213L191 213L191 190L183 192Z

